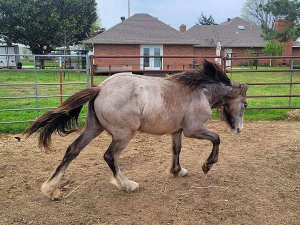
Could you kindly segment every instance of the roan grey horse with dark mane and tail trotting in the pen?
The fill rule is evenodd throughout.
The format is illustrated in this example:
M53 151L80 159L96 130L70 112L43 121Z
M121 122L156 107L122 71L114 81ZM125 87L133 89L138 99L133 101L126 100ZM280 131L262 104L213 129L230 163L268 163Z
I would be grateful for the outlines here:
M207 139L212 150L202 165L206 174L218 159L219 135L203 123L211 109L223 106L224 119L233 133L243 128L248 84L232 83L213 62L203 59L197 70L187 70L166 77L116 73L97 87L85 88L62 102L57 108L37 118L24 133L39 132L38 146L49 148L51 134L66 135L78 129L78 115L88 102L83 132L67 150L55 171L41 185L51 200L60 199L58 184L68 164L96 136L106 130L112 137L103 158L112 171L112 183L125 191L138 189L137 182L127 179L117 160L136 131L172 138L172 161L169 172L186 176L179 164L182 132L186 137Z

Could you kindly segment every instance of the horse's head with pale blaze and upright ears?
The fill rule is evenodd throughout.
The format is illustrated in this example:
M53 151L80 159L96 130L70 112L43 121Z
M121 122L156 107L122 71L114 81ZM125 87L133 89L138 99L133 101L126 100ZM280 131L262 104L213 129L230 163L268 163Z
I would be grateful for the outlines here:
M243 112L247 106L247 89L247 83L243 85L233 86L231 97L223 105L224 118L232 128L233 133L239 133L243 128Z

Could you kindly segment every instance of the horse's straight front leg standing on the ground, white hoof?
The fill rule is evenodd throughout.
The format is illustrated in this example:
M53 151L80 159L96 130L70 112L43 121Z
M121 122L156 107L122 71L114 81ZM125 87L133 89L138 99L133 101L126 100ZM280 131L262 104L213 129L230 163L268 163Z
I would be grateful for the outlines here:
M187 170L185 168L180 167L179 164L179 154L181 150L181 132L176 132L172 134L172 164L170 167L170 173L173 176L186 176Z

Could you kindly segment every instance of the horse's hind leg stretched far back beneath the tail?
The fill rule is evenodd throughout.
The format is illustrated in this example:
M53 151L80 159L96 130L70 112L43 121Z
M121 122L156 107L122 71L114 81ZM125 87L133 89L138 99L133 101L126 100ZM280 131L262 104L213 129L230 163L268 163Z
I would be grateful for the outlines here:
M77 137L68 147L54 173L41 185L41 191L51 200L58 200L59 191L58 184L67 165L80 153L80 151L96 136L98 136L104 128L98 122L93 121L93 124L87 125L80 136Z

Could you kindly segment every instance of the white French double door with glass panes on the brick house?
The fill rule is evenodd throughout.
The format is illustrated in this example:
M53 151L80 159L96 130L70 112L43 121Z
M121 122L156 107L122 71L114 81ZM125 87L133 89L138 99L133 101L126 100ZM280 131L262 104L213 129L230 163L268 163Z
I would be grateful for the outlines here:
M162 46L141 45L140 54L141 55L162 55ZM140 69L143 68L160 69L160 58L140 58Z

